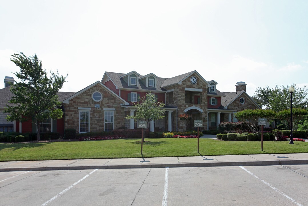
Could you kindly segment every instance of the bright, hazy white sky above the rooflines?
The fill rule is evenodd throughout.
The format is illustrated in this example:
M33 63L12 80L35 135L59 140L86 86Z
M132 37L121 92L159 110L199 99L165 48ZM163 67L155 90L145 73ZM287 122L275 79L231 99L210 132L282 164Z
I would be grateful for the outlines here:
M105 71L170 78L196 70L221 92L308 84L306 0L0 0L0 79L37 54L77 92ZM17 80L18 81L18 80ZM0 84L4 88L4 81Z

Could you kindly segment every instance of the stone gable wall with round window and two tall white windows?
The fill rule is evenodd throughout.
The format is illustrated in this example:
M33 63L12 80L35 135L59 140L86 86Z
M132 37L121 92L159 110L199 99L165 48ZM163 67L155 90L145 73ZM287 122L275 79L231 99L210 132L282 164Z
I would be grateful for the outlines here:
M97 102L92 99L94 92L103 94L101 101ZM79 94L64 104L65 111L65 129L75 129L79 133L79 110L78 107L91 108L90 111L90 132L104 131L104 110L103 108L114 108L114 129L125 126L124 108L120 104L123 102L113 96L101 85L96 84L92 88ZM95 108L99 104L99 108Z

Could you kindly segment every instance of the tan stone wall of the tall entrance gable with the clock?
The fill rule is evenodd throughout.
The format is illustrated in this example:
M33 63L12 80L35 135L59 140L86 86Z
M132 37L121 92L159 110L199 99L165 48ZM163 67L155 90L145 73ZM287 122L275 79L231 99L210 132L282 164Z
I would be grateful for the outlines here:
M195 75L191 75L191 76L195 76ZM184 131L184 127L185 127L185 122L181 121L179 119L180 114L184 114L184 109L188 108L188 107L192 107L192 106L196 106L199 107L200 109L203 110L203 113L200 115L200 119L203 121L203 128L199 128L201 131L205 130L205 128L207 128L207 105L208 105L208 101L207 101L207 89L208 89L208 85L204 84L202 82L202 80L200 78L197 77L197 84L192 84L190 82L190 77L188 76L188 78L186 78L185 80L182 81L182 84L180 85L176 85L176 86L172 86L172 87L167 87L165 88L166 90L169 89L174 89L173 90L173 103L171 104L166 104L167 106L174 106L174 107L178 107L177 110L177 115L175 112L172 112L172 128L174 128L174 131L176 130L176 116L178 117L177 123L178 123L178 131ZM202 89L202 93L200 93L200 102L201 104L186 104L185 103L185 87L186 88L194 88L194 89ZM168 94L168 93L167 93ZM166 96L167 99L167 96ZM168 127L167 127L168 128Z

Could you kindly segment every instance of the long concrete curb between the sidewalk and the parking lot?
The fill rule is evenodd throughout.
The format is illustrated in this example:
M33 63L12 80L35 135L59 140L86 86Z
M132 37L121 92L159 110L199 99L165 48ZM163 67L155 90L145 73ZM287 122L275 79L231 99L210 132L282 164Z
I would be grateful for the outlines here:
M140 169L165 167L230 167L230 166L271 166L308 164L308 159L293 160L260 160L260 161L226 161L196 163L158 163L158 164L127 164L127 165L90 165L90 166L59 166L59 167L3 167L0 172L8 171L51 171L51 170L94 170L94 169Z

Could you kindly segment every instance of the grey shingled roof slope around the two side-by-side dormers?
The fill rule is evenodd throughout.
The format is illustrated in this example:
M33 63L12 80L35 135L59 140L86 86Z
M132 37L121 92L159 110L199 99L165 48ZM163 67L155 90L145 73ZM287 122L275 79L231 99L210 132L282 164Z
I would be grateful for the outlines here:
M141 81L138 81L138 86L128 86L128 84L121 78L123 73L115 73L115 72L105 72L103 79L105 79L105 75L109 76L113 84L117 89L144 89L144 90L153 90L153 91L166 91L165 89L161 88L161 85L164 83L166 78L157 77L156 78L156 87L147 87ZM139 76L139 78L143 76ZM102 80L103 80L102 79Z

